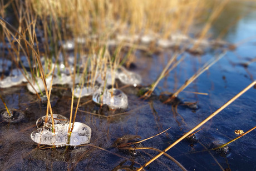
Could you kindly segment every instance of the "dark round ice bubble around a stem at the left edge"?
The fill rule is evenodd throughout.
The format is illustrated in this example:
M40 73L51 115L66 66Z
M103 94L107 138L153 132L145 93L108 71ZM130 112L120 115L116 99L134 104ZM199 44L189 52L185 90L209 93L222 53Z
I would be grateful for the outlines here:
M17 123L24 118L24 113L21 110L9 109L9 113L11 115L8 114L6 109L1 109L0 110L1 120L4 120L9 123Z

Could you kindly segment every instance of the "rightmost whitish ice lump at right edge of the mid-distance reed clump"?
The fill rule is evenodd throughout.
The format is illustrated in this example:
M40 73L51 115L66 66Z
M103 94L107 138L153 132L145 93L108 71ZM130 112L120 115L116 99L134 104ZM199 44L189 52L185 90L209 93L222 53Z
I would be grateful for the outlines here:
M124 67L120 67L118 69L118 72L116 72L116 77L124 84L141 84L140 75L134 72L127 71Z

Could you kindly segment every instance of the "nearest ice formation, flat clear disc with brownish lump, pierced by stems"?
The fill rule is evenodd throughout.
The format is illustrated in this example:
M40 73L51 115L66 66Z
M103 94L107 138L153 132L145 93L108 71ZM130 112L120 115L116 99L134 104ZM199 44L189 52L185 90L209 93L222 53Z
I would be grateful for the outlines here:
M31 139L38 144L45 145L81 145L90 143L91 139L91 128L88 125L75 122L73 130L68 138L68 119L60 114L53 114L55 120L55 133L51 124L51 116L47 124L43 121L46 116L41 117L37 120L38 129L31 133ZM39 124L41 123L41 124ZM71 126L72 128L72 126Z

